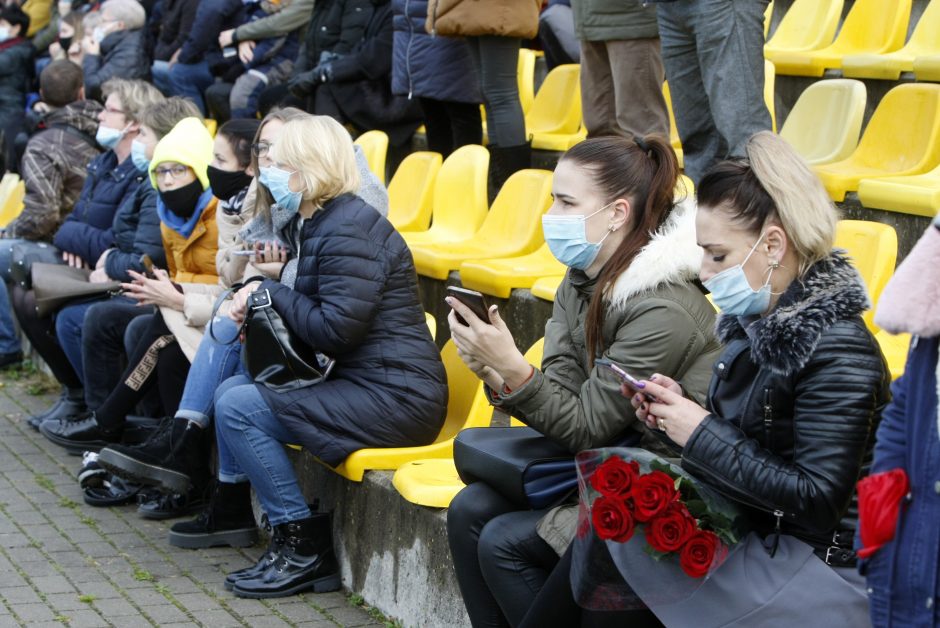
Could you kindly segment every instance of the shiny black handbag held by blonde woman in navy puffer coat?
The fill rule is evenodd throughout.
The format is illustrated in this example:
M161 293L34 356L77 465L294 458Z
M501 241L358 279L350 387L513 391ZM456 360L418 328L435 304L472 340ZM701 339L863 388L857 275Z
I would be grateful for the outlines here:
M252 277L245 283L263 279ZM229 295L244 284L235 284L223 293L212 312L215 319L219 307ZM209 335L219 341L212 332ZM274 392L288 392L319 384L333 370L335 360L308 345L291 331L284 319L271 306L271 294L267 290L256 290L248 298L245 321L239 336L242 337L242 362L255 383L262 384ZM233 338L230 342L234 342Z

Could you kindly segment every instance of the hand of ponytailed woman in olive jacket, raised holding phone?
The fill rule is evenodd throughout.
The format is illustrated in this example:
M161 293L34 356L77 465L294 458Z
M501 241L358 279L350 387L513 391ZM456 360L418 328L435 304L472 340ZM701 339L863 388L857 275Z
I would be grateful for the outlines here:
M459 299L447 297L444 300L453 308L447 315L450 335L467 367L494 390L501 390L504 384L510 389L522 386L532 375L532 365L516 349L512 333L496 306L490 307L490 324L487 324ZM469 325L458 322L457 314Z

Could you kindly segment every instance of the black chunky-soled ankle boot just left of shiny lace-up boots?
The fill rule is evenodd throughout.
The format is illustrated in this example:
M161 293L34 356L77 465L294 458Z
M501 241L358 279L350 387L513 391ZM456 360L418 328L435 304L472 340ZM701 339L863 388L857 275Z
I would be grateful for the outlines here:
M248 547L258 542L258 528L251 510L251 485L248 482L216 484L209 506L192 521L181 521L170 528L170 545L202 549L230 545Z

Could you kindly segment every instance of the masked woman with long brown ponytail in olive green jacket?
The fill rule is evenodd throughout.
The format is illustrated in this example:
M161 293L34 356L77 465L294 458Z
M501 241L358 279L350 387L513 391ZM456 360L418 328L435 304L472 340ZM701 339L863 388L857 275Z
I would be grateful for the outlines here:
M562 156L542 226L569 270L545 328L541 369L516 349L495 307L487 323L448 299L459 355L491 403L572 452L658 446L599 358L639 377L667 374L704 398L719 345L714 309L697 285L694 206L676 203L677 178L676 156L658 137L590 139ZM519 511L482 483L457 495L448 535L475 627L521 622L574 537L576 517L574 505Z

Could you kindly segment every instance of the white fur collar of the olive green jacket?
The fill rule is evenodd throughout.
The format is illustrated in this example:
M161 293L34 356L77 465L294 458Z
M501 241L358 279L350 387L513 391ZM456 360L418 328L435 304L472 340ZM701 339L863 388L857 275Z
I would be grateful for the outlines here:
M622 307L642 292L698 278L702 249L695 242L695 203L684 199L670 212L610 290L610 304Z

